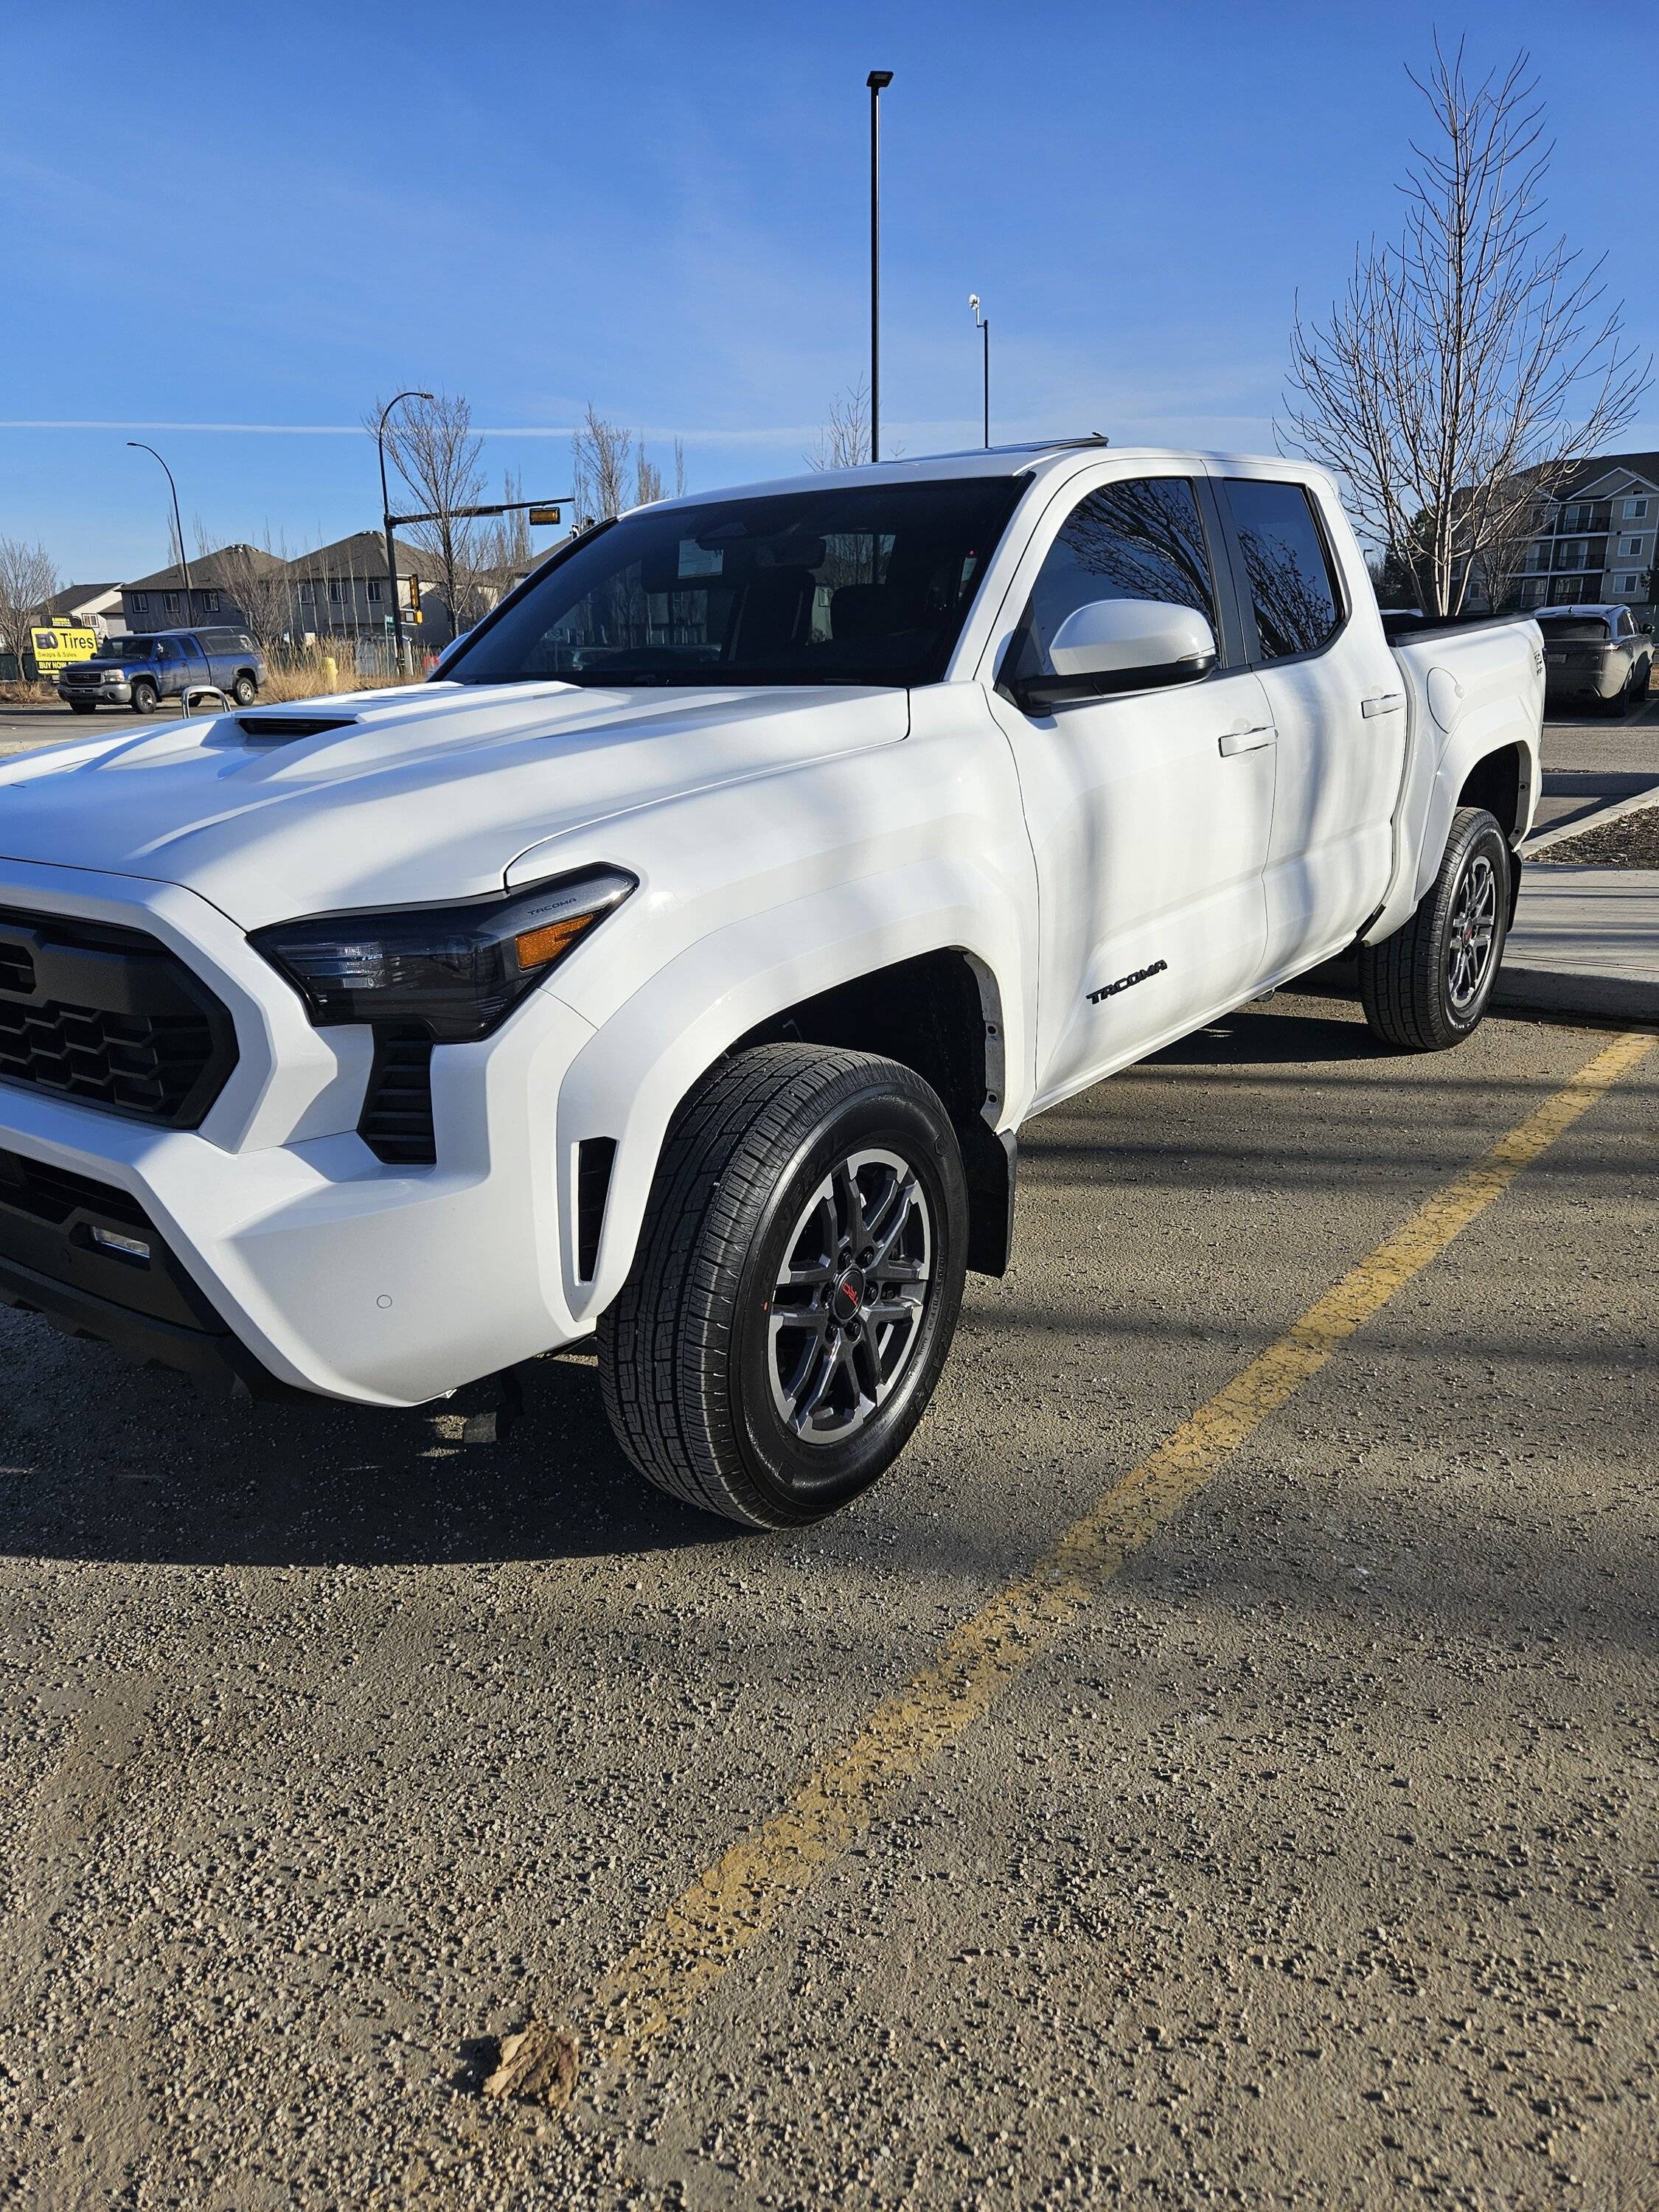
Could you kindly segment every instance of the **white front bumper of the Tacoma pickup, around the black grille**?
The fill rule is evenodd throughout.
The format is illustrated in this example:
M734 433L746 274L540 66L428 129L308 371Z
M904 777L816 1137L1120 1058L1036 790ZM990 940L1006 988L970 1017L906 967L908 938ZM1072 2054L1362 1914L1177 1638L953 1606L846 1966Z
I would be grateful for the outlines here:
M206 900L0 860L0 905L161 938L230 1009L239 1051L195 1130L0 1084L0 1152L137 1208L150 1283L170 1287L135 1301L126 1263L73 1243L93 1217L62 1232L66 1259L62 1237L42 1245L0 1206L0 1296L166 1365L369 1405L420 1405L588 1334L577 1155L553 1133L593 1029L562 1000L533 993L493 1037L436 1051L438 1166L383 1166L356 1135L369 1031L312 1029Z

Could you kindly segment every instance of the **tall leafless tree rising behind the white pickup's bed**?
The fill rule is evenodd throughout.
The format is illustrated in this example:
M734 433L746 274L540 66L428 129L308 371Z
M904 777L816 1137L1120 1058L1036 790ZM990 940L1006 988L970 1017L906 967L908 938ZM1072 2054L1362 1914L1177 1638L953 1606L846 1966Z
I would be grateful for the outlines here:
M1615 438L1648 363L1604 303L1601 261L1544 237L1544 106L1528 58L1478 84L1462 42L1411 82L1433 137L1411 144L1405 230L1360 246L1323 323L1301 310L1281 440L1347 480L1431 613L1515 538L1575 460Z

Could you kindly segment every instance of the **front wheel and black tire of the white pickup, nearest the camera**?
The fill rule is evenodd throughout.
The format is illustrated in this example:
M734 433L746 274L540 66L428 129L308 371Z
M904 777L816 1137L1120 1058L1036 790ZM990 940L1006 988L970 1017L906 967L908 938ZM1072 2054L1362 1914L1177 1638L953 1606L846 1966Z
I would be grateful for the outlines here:
M860 1272L872 1250L891 1274ZM922 1418L964 1261L962 1155L920 1075L872 1053L737 1053L675 1115L633 1270L599 1321L617 1442L708 1513L823 1520Z

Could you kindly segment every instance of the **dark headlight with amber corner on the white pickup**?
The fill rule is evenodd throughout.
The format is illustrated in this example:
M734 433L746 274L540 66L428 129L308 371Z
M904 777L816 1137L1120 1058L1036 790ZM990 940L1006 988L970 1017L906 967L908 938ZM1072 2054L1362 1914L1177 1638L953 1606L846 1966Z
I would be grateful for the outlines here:
M400 1022L456 1044L487 1037L635 887L619 867L595 867L465 907L276 922L248 942L288 975L316 1029Z

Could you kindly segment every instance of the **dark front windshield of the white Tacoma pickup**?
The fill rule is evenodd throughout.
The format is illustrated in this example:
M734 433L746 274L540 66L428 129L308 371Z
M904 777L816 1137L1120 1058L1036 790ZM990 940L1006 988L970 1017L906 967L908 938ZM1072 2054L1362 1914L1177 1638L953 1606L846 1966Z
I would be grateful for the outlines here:
M834 484L646 507L580 540L458 684L933 684L1024 487Z

